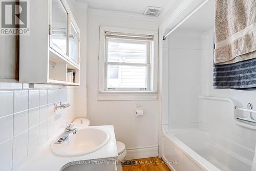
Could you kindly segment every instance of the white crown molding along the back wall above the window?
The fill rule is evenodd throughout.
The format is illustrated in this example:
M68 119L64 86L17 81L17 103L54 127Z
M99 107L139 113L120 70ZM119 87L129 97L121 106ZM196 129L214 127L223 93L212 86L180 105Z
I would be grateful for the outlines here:
M95 14L127 16L127 17L135 17L135 18L151 19L151 20L158 20L159 19L159 17L145 16L143 14L121 12L121 11L112 11L112 10L103 10L103 9L95 9L95 8L88 8L88 12L95 13Z

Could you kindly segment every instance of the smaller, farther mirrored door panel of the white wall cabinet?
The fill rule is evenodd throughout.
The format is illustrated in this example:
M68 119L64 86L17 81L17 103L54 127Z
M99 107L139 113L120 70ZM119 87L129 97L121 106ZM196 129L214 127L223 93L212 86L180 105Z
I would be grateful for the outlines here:
M79 64L79 31L76 25L71 22L70 27L70 59L73 63Z

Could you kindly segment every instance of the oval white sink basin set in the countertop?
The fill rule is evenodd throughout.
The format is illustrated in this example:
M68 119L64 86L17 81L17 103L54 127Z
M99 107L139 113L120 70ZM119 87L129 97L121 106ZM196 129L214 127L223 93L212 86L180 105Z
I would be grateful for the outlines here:
M55 144L56 139L51 143L52 152L59 156L72 157L97 151L110 141L110 134L98 127L84 127L61 144Z

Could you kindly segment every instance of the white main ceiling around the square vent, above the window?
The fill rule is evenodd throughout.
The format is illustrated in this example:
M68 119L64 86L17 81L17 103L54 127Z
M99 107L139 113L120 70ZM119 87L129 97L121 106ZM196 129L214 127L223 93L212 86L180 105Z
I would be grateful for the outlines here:
M89 8L143 14L147 6L167 10L177 0L79 0L87 3ZM160 13L160 15L161 15Z

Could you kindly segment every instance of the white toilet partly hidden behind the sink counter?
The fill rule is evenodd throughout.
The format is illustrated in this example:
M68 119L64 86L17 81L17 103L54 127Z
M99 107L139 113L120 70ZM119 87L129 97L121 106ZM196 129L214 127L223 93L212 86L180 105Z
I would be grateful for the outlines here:
M86 118L77 118L73 121L74 127L86 127L90 125L90 120ZM117 171L122 171L122 161L126 156L126 149L125 149L125 144L116 141L116 147L117 147L117 153L118 153L118 158L117 158Z

